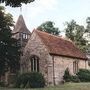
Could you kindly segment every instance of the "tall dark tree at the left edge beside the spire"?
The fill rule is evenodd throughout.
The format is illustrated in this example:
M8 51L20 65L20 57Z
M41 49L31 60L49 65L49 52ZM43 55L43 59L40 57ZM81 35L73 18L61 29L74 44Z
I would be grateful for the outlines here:
M6 14L4 7L0 6L0 76L8 70L19 69L19 47L11 33L13 23L11 14Z

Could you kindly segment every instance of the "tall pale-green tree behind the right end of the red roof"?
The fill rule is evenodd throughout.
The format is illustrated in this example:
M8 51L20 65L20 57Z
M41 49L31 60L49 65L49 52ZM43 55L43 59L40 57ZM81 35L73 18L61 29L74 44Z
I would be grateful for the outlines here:
M71 22L66 22L65 35L70 38L82 51L87 49L87 40L85 38L85 33L87 30L84 26L78 25L74 20Z

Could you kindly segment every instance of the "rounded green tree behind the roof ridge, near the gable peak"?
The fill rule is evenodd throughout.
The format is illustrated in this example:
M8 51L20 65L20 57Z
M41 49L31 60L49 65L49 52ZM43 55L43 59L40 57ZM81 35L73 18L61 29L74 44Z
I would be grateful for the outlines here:
M54 22L47 21L45 23L42 23L40 26L38 26L37 29L53 35L59 35L60 31L57 27L54 27L54 25L55 25Z

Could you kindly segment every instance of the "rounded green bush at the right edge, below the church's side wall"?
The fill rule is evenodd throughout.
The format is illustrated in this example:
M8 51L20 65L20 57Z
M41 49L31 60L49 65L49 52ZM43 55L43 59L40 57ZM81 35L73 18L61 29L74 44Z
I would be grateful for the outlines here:
M90 82L90 71L86 69L80 69L77 73L81 82Z

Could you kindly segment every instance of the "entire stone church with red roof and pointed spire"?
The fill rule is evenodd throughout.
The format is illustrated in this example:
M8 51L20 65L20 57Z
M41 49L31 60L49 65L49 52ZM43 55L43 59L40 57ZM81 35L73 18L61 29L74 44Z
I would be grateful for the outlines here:
M22 15L12 33L22 47L20 72L40 72L47 85L60 84L66 68L71 75L89 68L86 55L72 41L36 29L31 33Z

